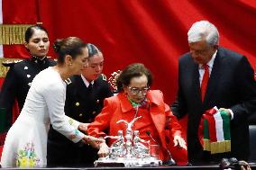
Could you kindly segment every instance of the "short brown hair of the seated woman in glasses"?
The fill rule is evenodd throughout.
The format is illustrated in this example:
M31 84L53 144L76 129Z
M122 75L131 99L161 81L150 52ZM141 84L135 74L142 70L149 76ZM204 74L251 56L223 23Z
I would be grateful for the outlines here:
M148 86L152 84L151 71L142 63L133 63L123 69L121 74L116 79L117 91L123 91L123 85L130 85L133 77L145 75L148 78Z

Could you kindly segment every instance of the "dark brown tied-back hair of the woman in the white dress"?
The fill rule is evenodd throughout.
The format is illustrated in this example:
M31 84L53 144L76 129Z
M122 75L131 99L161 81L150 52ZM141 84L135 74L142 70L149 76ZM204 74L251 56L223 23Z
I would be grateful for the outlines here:
M68 37L66 39L57 39L53 43L53 49L58 53L58 63L64 64L66 55L77 58L83 53L83 49L87 47L87 43L78 37Z

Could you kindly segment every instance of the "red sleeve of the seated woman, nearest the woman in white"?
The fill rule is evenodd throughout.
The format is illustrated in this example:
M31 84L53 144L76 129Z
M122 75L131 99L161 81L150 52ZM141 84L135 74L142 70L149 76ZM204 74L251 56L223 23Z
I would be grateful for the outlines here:
M111 120L111 103L108 99L104 101L104 108L100 112L94 122L90 123L87 129L87 134L96 138L106 136L104 130L109 128Z

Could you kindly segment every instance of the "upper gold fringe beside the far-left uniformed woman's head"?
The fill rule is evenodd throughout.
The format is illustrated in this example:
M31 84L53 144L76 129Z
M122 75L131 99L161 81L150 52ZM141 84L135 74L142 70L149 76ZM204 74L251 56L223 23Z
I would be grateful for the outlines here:
M0 24L0 44L23 44L25 31L33 24Z

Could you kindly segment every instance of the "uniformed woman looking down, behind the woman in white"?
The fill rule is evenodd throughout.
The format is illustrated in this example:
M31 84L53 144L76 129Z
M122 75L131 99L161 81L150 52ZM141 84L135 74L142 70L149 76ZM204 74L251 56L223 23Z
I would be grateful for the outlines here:
M103 108L106 97L112 96L110 85L102 75L104 58L95 45L88 43L88 67L81 76L66 81L65 113L80 122L90 123ZM87 145L70 142L50 127L47 146L48 166L93 166L97 150Z

